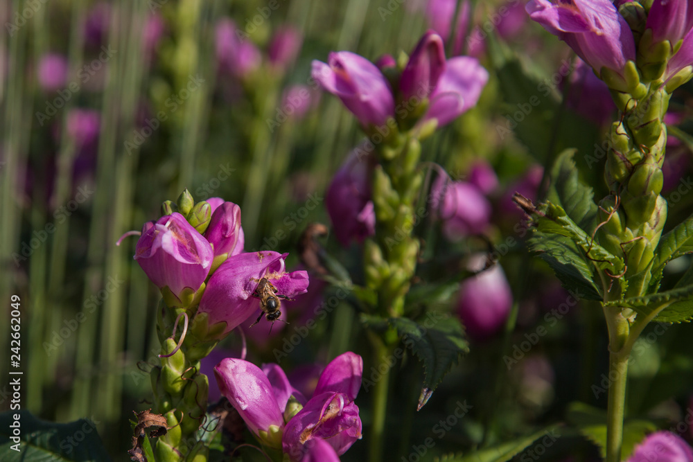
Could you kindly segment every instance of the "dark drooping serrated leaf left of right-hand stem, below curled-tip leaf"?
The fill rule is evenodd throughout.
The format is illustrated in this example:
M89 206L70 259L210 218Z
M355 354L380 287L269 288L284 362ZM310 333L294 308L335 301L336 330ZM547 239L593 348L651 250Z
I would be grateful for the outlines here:
M565 289L579 294L581 299L602 301L599 287L592 281L592 269L572 240L557 234L536 231L527 242L529 250L538 252Z

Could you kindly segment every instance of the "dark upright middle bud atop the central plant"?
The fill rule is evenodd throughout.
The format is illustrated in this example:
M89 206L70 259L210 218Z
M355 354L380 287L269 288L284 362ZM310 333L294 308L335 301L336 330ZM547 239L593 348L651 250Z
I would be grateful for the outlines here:
M402 99L415 97L428 98L445 71L445 50L443 39L432 30L421 37L402 71L399 89Z

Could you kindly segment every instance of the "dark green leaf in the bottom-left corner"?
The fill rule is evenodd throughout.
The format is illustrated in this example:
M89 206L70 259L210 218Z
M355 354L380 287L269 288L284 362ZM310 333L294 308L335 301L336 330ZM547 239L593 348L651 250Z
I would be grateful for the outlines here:
M17 446L10 439L15 414L19 414L20 425ZM7 411L0 414L0 428L0 460L4 462L111 460L94 423L86 419L52 423L35 418L29 411Z

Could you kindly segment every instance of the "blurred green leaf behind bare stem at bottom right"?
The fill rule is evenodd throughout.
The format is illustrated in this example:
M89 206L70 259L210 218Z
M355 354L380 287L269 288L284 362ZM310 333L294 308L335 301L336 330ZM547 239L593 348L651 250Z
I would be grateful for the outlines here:
M574 402L568 408L568 422L575 425L579 432L599 447L602 457L606 457L606 411ZM658 426L650 420L626 419L623 423L622 458L631 455L635 445L645 435L656 432Z

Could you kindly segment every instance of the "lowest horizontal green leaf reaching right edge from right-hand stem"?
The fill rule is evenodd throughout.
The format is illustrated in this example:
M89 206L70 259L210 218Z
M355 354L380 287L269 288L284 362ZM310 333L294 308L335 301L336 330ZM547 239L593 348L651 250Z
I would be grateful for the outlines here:
M653 321L681 323L690 322L693 318L692 296L693 285L687 285L658 294L635 296L608 304L632 308L644 317L649 317L656 312Z

